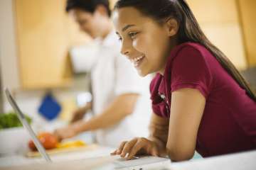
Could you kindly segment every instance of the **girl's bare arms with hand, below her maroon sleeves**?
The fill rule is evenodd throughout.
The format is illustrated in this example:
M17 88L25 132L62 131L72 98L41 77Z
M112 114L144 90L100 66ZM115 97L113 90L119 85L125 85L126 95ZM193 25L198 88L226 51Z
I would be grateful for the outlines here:
M152 115L150 137L135 137L124 141L112 154L132 159L137 154L166 156L172 161L193 157L196 137L206 98L196 89L179 89L171 95L170 119Z

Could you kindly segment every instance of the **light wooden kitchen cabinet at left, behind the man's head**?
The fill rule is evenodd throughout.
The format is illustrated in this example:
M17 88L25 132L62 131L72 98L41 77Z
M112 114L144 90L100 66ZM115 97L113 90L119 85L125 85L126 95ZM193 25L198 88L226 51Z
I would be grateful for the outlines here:
M90 41L65 13L65 0L16 0L18 64L23 89L72 84L70 46Z

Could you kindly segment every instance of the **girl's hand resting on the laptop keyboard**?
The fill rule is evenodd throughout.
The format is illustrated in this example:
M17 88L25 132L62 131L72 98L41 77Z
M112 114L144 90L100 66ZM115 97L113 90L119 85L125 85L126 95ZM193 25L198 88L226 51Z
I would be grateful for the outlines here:
M136 137L133 140L122 142L119 149L111 154L119 154L121 157L126 157L128 154L126 159L129 160L137 154L149 154L159 157L161 152L155 142L144 137Z

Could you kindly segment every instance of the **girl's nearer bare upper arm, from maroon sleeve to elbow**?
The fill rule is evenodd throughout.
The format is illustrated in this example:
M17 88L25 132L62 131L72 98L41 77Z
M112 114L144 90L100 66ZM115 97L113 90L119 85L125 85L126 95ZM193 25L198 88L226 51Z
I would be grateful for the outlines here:
M206 98L197 89L186 88L172 92L166 145L171 160L183 161L193 157L205 105Z

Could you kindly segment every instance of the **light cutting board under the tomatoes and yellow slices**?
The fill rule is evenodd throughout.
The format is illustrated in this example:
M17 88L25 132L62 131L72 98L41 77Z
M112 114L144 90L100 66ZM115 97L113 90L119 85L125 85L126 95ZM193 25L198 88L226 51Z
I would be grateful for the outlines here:
M63 154L68 152L81 152L81 151L93 151L97 149L99 146L96 144L92 145L85 145L80 147L67 147L67 148L55 148L55 149L48 149L46 153L49 155L53 154ZM26 157L41 157L41 154L38 151L30 151L26 153Z

